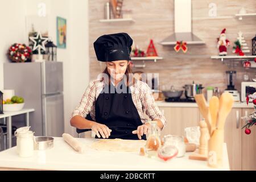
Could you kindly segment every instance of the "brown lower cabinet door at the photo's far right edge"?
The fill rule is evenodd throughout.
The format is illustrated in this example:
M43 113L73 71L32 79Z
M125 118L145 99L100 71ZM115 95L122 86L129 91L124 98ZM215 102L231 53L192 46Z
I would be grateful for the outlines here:
M253 113L254 109L242 109L243 116ZM242 126L245 122L242 123ZM242 130L242 170L256 170L256 126L250 127L251 134Z

